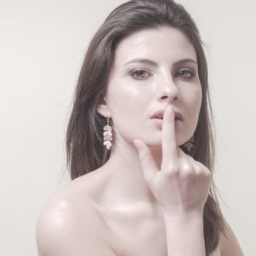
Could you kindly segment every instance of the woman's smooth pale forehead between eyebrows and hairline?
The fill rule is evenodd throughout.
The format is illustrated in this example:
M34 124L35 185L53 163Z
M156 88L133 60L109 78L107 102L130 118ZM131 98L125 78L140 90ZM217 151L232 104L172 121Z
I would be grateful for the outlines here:
M172 27L143 29L125 37L116 48L114 62L122 64L135 58L155 61L177 61L187 58L197 60L195 48L189 39Z

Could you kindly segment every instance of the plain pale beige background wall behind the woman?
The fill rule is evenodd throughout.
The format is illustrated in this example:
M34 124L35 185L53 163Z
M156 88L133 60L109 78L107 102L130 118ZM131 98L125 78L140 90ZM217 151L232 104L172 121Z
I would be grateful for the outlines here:
M0 255L36 255L39 211L67 176L64 135L86 46L124 1L0 0ZM206 42L225 217L255 255L255 1L180 0Z

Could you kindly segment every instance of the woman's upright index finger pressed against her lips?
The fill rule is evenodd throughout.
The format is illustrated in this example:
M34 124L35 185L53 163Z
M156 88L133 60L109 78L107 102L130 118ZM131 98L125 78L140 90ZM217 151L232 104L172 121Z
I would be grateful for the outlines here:
M162 122L162 165L169 166L176 162L177 155L175 110L168 107Z

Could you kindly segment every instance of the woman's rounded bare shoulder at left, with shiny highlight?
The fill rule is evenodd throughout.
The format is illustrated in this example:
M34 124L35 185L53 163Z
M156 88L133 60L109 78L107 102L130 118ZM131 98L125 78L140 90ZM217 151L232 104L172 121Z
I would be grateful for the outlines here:
M84 182L71 181L54 195L37 220L39 256L116 255L108 229L89 197Z

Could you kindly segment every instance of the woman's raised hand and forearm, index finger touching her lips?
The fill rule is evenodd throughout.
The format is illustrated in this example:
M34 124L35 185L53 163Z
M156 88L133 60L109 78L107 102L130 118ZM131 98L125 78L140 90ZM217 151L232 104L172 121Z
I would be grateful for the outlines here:
M162 206L170 255L206 255L203 238L203 206L208 197L211 172L176 145L175 114L165 110L162 125L162 165L158 169L151 151L138 145L143 173Z

